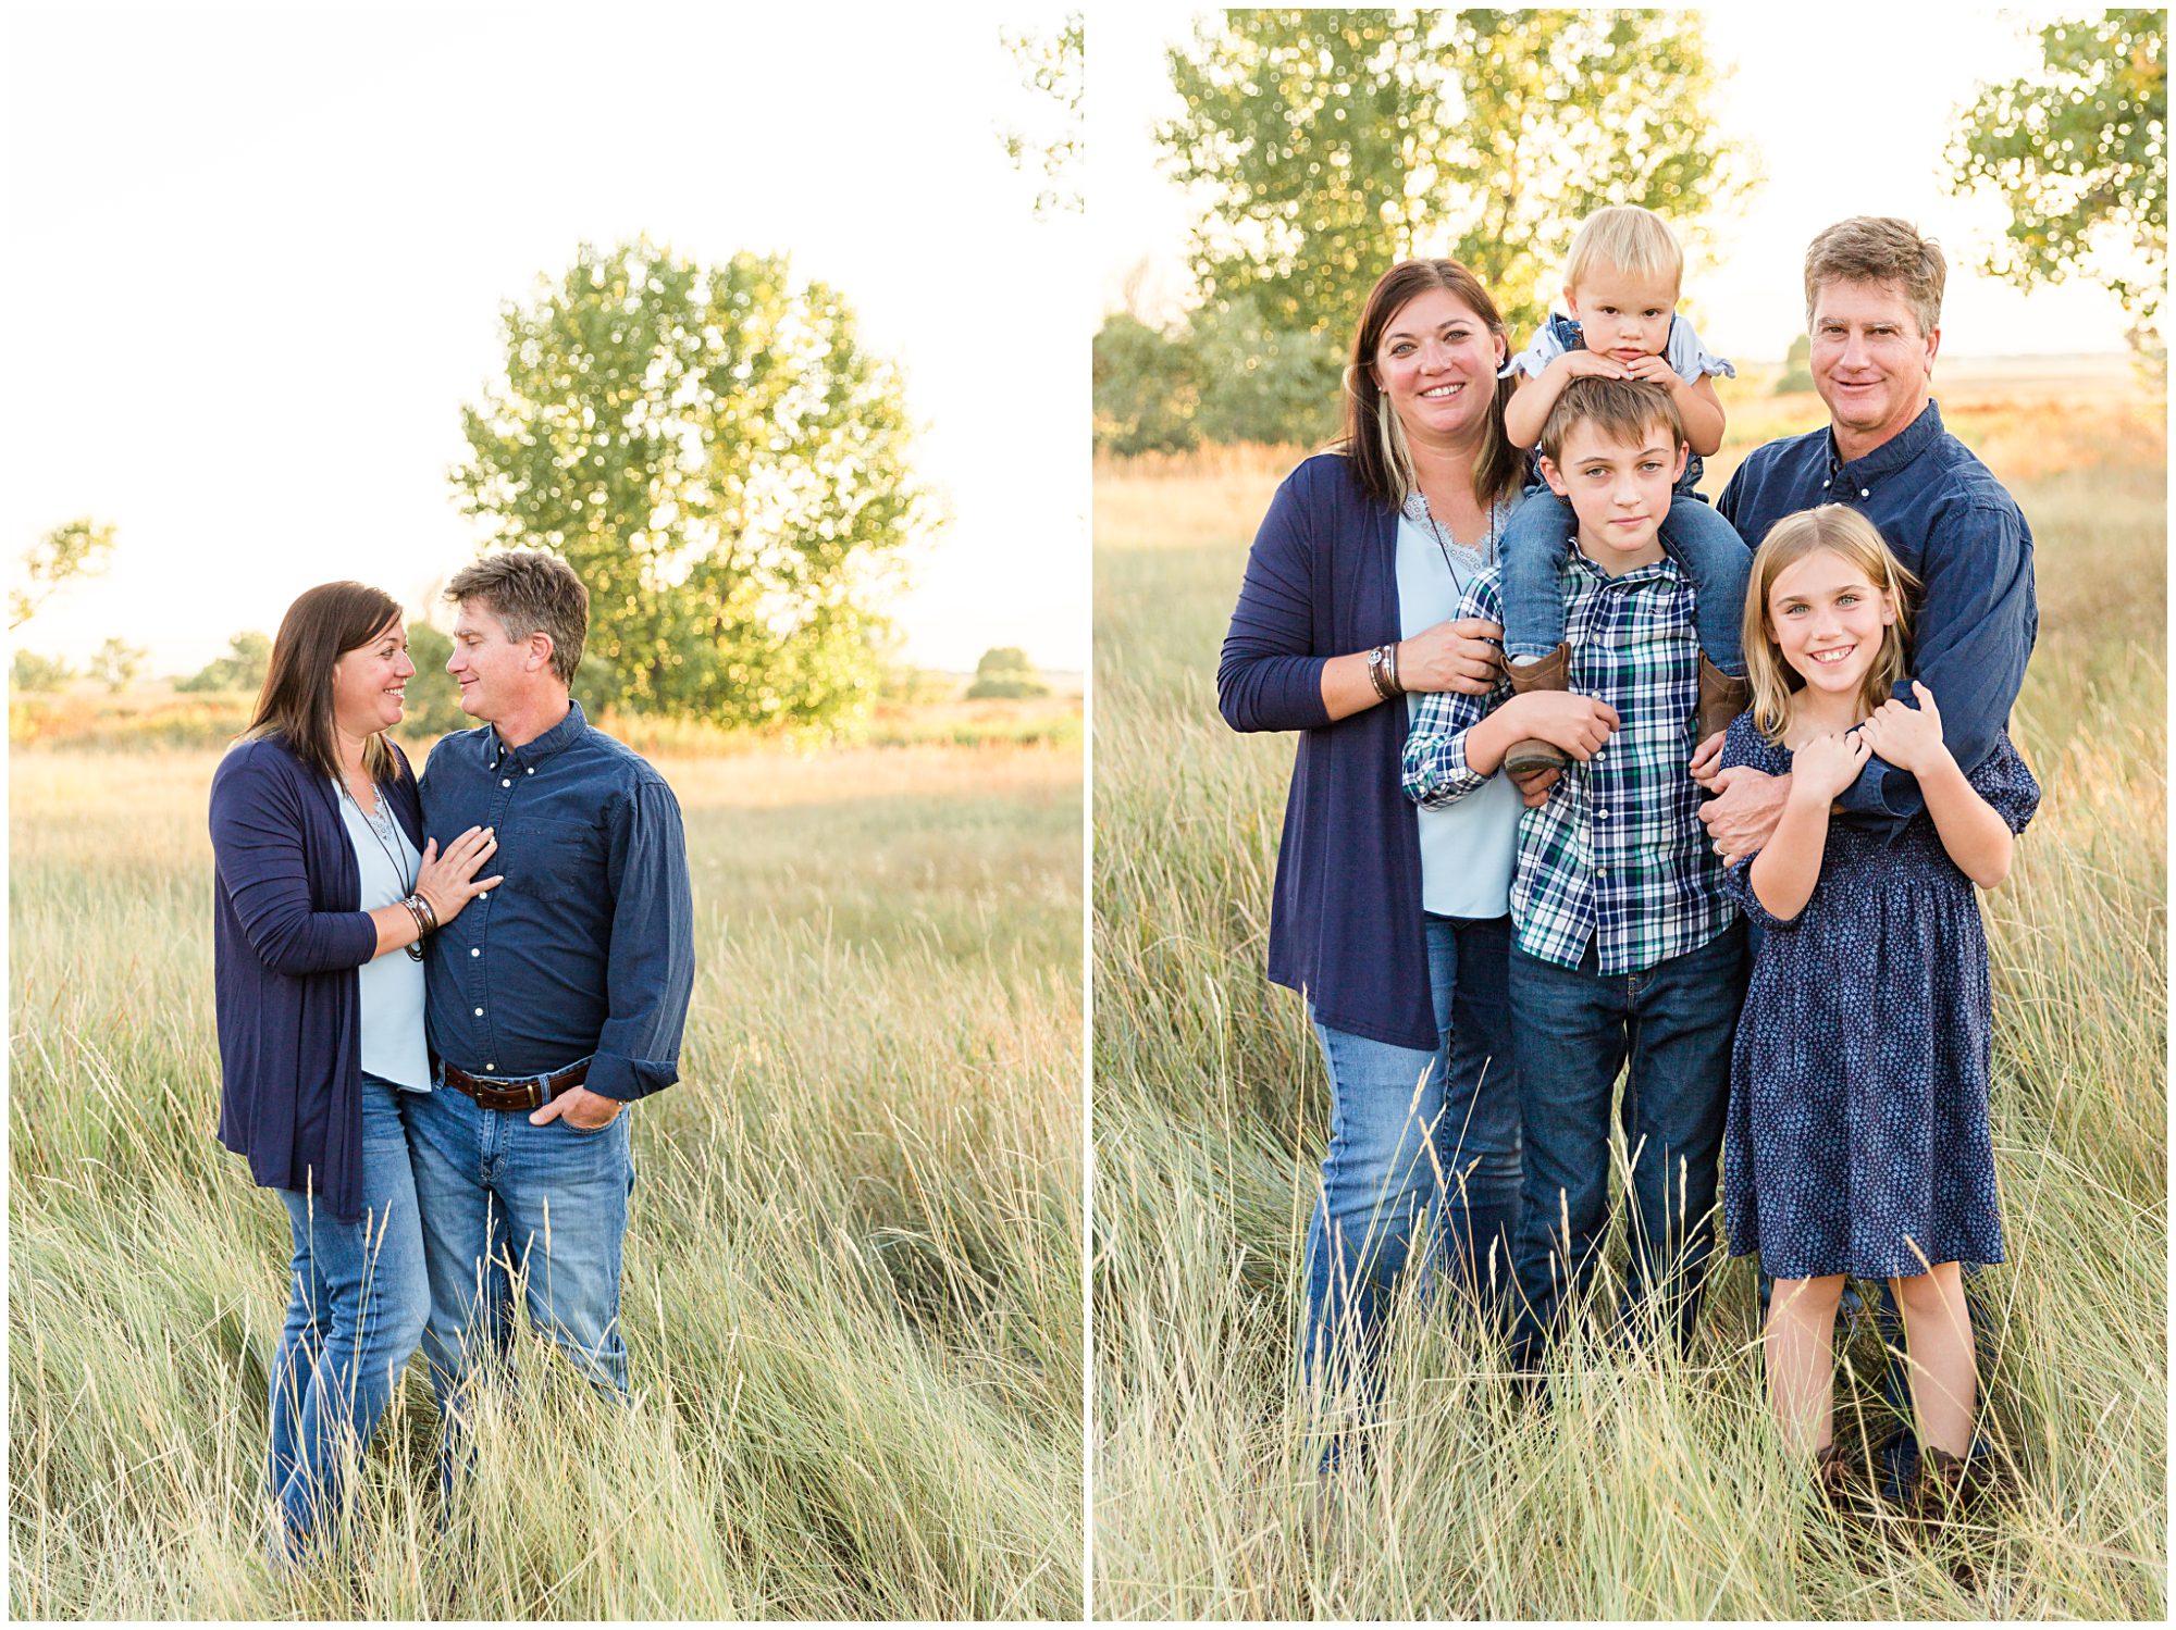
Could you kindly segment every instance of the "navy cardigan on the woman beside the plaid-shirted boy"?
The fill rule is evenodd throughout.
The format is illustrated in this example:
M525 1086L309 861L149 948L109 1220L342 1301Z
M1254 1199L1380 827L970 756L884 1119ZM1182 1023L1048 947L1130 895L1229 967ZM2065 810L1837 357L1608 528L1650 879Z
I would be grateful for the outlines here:
M1399 791L1406 709L1330 722L1323 663L1399 637L1397 511L1351 461L1321 452L1284 478L1247 556L1216 704L1234 730L1299 730L1269 911L1269 976L1314 1017L1436 1050L1421 913L1421 826Z

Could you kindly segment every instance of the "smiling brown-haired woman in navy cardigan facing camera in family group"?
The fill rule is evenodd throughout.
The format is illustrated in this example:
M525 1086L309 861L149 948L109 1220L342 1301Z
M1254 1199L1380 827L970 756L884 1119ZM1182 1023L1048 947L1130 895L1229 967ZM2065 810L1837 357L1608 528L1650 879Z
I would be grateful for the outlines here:
M1306 1369L1373 1350L1423 1215L1458 1280L1508 1287L1519 1095L1506 967L1519 793L1399 789L1410 691L1486 693L1495 624L1454 622L1521 496L1504 319L1456 261L1369 293L1347 430L1277 489L1216 669L1234 730L1299 730L1269 976L1308 998L1330 1150L1308 1228ZM1364 1363L1362 1363L1364 1374Z

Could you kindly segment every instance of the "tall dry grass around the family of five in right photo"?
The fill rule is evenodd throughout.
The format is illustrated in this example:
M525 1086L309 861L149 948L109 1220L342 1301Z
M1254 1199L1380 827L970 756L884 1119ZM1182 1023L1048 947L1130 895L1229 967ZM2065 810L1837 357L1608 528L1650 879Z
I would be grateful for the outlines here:
M1715 489L1745 446L1806 428L1808 404L1797 422L1780 422L1789 404L1734 406ZM1839 1532L1767 1424L1754 1274L1732 1261L1686 1361L1573 1343L1547 1413L1504 1382L1499 1350L1408 1297L1373 1463L1319 1495L1293 1352L1327 1093L1299 1000L1262 971L1293 741L1236 737L1214 704L1245 546L1290 461L1110 465L1095 706L1099 1615L2163 1617L2159 409L2111 424L2048 402L1943 406L1967 441L2011 452L1998 474L2039 543L2041 639L2013 724L2045 800L2013 880L1985 902L2011 1263L1987 1278L1980 1352L2015 1491L1971 1532ZM2035 441L2008 437L2028 422ZM1856 1332L1845 1363L1871 1413L1876 1339ZM1847 1441L1884 1430L1843 1426Z

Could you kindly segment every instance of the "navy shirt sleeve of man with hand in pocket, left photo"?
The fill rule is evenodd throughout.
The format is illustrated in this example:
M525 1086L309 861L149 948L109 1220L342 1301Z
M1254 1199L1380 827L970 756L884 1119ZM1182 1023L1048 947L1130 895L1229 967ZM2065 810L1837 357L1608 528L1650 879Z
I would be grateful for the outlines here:
M679 800L638 782L611 824L611 954L607 1017L583 1082L605 1098L646 1098L679 1080L679 1045L694 991L694 895Z

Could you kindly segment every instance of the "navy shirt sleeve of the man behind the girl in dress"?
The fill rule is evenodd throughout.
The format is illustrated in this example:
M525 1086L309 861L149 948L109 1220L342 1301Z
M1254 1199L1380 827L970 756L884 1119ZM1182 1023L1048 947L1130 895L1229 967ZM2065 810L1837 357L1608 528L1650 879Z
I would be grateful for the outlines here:
M1917 706L1911 680L1934 695L1950 756L1969 774L1995 750L2026 678L2037 632L2032 546L2015 506L1963 502L1943 519L1921 563L1913 617L1913 672L1895 695ZM1926 808L1919 782L1869 758L1843 806L1891 832Z

